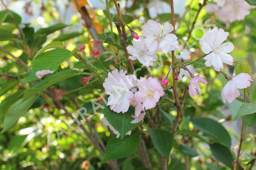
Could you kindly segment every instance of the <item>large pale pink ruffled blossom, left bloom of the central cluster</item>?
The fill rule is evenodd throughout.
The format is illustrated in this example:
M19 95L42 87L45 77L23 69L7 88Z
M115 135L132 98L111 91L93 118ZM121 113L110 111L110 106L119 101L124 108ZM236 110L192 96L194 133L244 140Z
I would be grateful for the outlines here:
M108 106L110 109L117 113L125 113L128 111L130 101L133 98L133 92L130 89L133 85L133 76L125 75L127 71L115 69L108 73L105 78L103 87L105 88L108 97Z

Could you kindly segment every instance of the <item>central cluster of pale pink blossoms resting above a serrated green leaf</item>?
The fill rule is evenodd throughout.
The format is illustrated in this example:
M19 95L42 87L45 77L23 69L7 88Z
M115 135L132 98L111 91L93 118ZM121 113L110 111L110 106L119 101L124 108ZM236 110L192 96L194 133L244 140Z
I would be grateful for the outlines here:
M141 77L137 80L134 75L126 75L127 71L115 69L108 73L103 87L108 97L108 106L117 113L125 113L129 106L135 107L135 115L131 123L138 123L143 120L145 110L154 108L163 96L163 88L157 79ZM136 91L138 86L138 91ZM133 93L135 92L135 93Z

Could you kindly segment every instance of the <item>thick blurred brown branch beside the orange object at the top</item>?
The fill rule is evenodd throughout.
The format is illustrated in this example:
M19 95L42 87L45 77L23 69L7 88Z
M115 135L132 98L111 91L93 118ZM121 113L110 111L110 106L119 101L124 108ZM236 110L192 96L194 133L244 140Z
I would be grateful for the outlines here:
M79 12L82 15L82 18L86 24L86 27L87 27L90 35L93 37L94 40L98 41L99 37L96 35L97 34L96 28L94 27L93 21L91 20L87 9L85 7L80 7L77 0L75 0L75 4L76 4L77 9L79 10ZM99 48L101 49L102 52L106 51L102 45L102 42L99 43Z

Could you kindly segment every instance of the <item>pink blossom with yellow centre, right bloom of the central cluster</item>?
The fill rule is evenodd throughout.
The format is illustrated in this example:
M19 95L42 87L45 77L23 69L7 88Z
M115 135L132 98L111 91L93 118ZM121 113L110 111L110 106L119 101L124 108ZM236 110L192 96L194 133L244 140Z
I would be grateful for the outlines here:
M139 91L134 93L135 101L143 103L146 110L154 108L159 98L165 94L161 84L152 77L148 79L140 77L138 88Z

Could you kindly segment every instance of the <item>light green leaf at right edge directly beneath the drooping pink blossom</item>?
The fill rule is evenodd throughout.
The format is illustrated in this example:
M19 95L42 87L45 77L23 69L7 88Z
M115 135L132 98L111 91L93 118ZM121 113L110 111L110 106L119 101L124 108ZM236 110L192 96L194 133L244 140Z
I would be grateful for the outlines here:
M233 120L256 112L256 104L254 103L244 103L235 99L232 103L226 103L225 105L230 109Z

